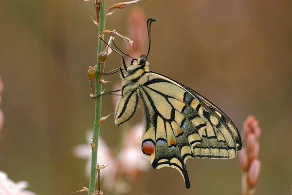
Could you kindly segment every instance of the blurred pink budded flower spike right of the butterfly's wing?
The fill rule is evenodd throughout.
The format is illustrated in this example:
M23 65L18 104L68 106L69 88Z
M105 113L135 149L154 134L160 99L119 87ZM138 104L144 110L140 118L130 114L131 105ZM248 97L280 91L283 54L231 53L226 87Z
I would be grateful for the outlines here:
M261 170L261 164L257 158L260 134L261 129L256 118L253 116L247 117L243 123L242 131L245 147L239 153L239 162L242 169L242 195L253 195L256 191L255 186Z

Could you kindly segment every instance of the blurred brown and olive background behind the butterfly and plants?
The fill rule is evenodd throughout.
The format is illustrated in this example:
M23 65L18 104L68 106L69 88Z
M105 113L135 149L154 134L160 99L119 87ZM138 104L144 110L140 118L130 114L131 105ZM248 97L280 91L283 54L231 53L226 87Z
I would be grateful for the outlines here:
M118 2L106 0L106 5ZM147 0L116 10L108 17L106 29L129 35L129 17L138 7L144 10L145 32L146 19L157 20L151 30L151 71L211 100L239 131L245 118L254 115L262 129L262 171L256 194L290 194L292 1ZM38 195L69 195L88 186L86 160L73 156L72 150L86 143L84 132L93 127L94 120L86 72L96 63L98 29L90 16L95 17L93 0L0 1L0 77L4 83L0 108L5 117L0 170L14 181L27 180L28 190ZM125 49L122 40L116 43ZM120 65L120 56L112 53L105 71ZM105 79L120 80L117 74ZM110 91L113 83L103 87ZM124 127L116 127L113 117L102 124L100 135L113 154L121 129L142 121L141 110ZM102 116L112 112L112 97L103 97ZM241 192L238 156L189 159L187 167L189 190L175 169L151 168L130 183L127 194Z

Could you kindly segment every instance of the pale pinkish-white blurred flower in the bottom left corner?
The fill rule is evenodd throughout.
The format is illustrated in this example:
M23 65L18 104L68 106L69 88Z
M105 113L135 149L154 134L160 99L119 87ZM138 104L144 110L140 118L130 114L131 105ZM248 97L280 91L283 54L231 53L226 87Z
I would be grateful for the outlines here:
M33 192L24 190L27 188L26 181L17 183L8 178L7 174L0 171L0 195L36 195Z

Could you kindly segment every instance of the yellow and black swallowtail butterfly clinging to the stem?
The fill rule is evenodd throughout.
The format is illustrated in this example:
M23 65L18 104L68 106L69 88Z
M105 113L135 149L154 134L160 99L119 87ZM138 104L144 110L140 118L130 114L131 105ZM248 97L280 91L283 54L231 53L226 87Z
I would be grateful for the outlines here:
M152 21L147 20L148 54ZM148 54L133 59L128 67L123 59L122 97L114 122L120 125L128 121L140 97L145 111L142 152L155 169L177 169L185 187L190 188L187 159L233 158L241 149L241 138L231 119L209 100L171 78L149 71Z

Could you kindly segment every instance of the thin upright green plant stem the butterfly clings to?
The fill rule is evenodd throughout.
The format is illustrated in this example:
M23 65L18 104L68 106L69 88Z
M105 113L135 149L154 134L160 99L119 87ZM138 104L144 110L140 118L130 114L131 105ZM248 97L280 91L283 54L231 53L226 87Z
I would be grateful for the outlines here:
M106 0L103 0L103 3L100 4L99 11L99 29L98 36L105 30L106 24ZM96 71L100 73L100 64L98 59L98 54L103 50L103 42L98 39L98 48L97 48L97 67ZM95 82L96 82L96 96L101 95L101 83L99 82L100 74L96 74ZM92 143L94 143L94 149L91 152L91 174L90 174L90 183L89 183L89 192L88 195L95 192L95 184L96 184L96 163L97 163L97 150L98 150L98 137L100 130L100 117L101 117L101 96L94 99L95 101L95 118L94 118L94 127L93 127L93 137Z

